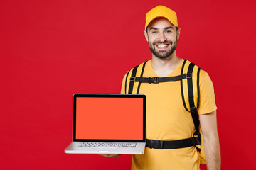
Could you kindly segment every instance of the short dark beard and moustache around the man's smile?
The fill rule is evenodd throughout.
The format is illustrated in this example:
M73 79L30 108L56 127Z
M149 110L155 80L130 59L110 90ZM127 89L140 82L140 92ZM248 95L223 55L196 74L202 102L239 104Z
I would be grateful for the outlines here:
M171 49L156 51L155 45L161 44L161 43L168 43L171 46ZM178 44L177 38L176 38L176 41L174 41L174 42L168 41L168 40L166 40L164 42L153 42L153 43L149 42L149 49L156 57L165 59L174 53L174 51L176 50L177 44Z

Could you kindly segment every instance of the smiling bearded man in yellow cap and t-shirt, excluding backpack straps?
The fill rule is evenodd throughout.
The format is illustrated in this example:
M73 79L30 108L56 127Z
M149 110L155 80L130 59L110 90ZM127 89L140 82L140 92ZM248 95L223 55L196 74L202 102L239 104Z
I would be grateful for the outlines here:
M184 60L176 55L176 45L181 33L176 13L165 6L156 6L146 14L144 35L152 52L146 62L143 77L174 77L181 74ZM126 92L127 76L122 82ZM215 96L212 81L206 72L200 72L200 118L208 170L220 169ZM146 94L146 139L183 140L193 137L195 125L191 113L186 111L181 97L181 82L158 84L142 83L139 94ZM132 169L199 169L198 149L154 149L146 147L144 154L134 155ZM117 155L112 155L117 156Z

